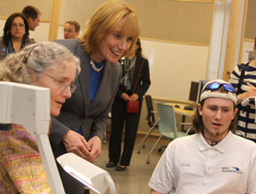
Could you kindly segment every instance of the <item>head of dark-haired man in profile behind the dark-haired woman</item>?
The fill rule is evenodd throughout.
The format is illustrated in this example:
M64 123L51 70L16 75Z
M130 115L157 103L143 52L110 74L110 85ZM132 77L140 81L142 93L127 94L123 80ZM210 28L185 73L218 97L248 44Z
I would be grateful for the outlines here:
M21 11L25 15L29 30L35 31L36 27L39 26L41 20L41 12L39 9L28 5Z

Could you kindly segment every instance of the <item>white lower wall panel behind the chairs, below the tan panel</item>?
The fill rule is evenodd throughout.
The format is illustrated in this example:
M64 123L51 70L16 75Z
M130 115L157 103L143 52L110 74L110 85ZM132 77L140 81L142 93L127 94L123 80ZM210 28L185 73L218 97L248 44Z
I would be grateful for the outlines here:
M206 78L208 47L142 40L148 58L151 86L148 94L188 100L191 81Z

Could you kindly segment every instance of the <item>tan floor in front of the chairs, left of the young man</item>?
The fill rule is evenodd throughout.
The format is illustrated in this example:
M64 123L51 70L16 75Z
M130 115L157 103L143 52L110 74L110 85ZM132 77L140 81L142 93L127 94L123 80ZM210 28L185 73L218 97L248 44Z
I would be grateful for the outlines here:
M137 137L135 149L131 157L131 166L121 172L116 171L115 168L105 167L106 163L108 163L108 140L106 144L102 145L102 156L96 161L96 165L107 170L112 176L117 194L148 194L150 191L148 180L163 152L159 152L158 148L161 145L167 145L168 141L160 140L160 143L150 157L150 164L147 164L148 152L157 139L150 138L147 140L146 147L141 150L140 154L137 154L138 144L141 142L142 138L143 136ZM90 194L95 193L94 191L90 191ZM110 194L110 191L106 191L104 194Z

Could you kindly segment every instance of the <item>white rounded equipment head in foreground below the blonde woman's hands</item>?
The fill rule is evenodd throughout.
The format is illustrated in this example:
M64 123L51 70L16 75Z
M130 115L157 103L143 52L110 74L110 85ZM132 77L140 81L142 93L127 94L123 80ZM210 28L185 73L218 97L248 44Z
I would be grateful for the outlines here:
M69 152L57 157L57 162L73 178L96 191L96 193L104 193L108 186L112 194L116 193L115 185L108 172L82 157Z

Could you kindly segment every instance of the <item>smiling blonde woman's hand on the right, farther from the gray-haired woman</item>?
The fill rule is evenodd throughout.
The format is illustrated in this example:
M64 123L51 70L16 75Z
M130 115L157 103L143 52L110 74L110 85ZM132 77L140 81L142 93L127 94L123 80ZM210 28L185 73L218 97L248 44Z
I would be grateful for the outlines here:
M98 136L94 136L88 140L88 144L90 145L90 156L86 160L95 163L102 153L102 140Z

